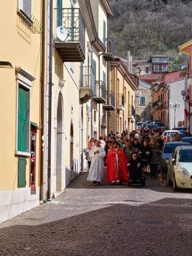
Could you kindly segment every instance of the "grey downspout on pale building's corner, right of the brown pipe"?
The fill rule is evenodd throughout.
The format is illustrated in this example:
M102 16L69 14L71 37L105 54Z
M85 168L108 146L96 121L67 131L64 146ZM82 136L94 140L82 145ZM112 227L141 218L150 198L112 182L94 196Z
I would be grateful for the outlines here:
M51 201L51 119L52 119L52 20L53 4L49 1L49 113L48 113L48 201Z

